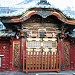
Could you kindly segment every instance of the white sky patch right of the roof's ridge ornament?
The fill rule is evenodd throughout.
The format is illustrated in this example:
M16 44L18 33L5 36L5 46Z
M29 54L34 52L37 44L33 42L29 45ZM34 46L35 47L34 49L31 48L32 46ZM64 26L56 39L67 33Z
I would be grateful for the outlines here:
M75 0L47 0L51 4L56 5L61 9L71 7L71 9L75 9Z

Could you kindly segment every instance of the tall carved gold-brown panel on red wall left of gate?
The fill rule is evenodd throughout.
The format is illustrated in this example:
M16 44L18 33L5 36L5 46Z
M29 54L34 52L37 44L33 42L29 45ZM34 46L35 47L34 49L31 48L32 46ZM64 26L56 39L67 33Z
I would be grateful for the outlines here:
M13 66L16 68L20 67L20 42L14 41L13 43Z

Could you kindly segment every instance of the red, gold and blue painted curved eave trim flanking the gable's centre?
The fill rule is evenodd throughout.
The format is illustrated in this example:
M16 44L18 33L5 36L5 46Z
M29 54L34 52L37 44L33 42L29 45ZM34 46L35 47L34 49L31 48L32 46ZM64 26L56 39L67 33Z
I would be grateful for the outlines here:
M37 9L37 8L35 8ZM54 15L56 16L59 20L61 20L62 22L66 23L66 24L70 24L70 25L75 25L75 19L68 19L61 11L57 11L56 9L50 8L53 11L50 11L50 15ZM27 19L29 19L32 15L34 14L38 14L38 10L27 10L25 13L22 14L22 16L20 18L17 19L11 19L13 22L23 22Z

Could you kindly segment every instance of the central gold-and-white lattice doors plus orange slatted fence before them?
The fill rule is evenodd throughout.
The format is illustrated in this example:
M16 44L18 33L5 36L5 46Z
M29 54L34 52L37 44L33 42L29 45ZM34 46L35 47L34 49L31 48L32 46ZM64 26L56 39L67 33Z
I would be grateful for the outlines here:
M57 53L57 38L27 38L23 52L23 71L60 71L61 58Z

